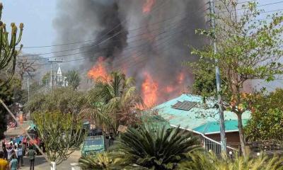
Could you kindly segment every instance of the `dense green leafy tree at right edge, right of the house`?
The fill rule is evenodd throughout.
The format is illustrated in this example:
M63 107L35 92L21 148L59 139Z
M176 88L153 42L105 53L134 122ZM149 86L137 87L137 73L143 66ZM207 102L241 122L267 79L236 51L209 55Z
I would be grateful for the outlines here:
M245 127L250 141L283 141L283 89L270 94L257 94L253 98L253 113Z

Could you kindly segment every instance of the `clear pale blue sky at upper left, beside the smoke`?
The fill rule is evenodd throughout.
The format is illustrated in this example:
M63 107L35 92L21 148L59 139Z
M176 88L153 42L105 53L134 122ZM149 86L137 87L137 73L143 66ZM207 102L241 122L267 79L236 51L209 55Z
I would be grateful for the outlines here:
M54 44L56 31L52 20L56 16L56 0L2 0L4 10L2 21L10 23L24 23L21 43L27 46L42 46ZM9 28L8 28L9 29ZM10 30L10 29L9 29ZM49 52L51 48L29 49L23 52Z

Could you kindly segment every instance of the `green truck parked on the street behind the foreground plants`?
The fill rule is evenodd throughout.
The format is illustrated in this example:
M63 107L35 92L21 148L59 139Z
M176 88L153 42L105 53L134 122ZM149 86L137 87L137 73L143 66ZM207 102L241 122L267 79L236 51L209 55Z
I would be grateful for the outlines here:
M90 154L96 154L105 150L104 136L88 136L81 145L81 156L86 157Z

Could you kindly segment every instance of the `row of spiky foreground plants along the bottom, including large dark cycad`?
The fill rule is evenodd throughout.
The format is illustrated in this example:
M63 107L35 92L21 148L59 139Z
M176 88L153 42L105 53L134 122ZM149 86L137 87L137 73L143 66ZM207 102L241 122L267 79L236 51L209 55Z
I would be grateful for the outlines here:
M221 158L214 153L197 149L195 137L180 128L166 130L142 125L129 128L121 134L120 140L111 152L83 157L79 160L81 169L184 169L184 170L277 170L283 169L283 159L259 157Z

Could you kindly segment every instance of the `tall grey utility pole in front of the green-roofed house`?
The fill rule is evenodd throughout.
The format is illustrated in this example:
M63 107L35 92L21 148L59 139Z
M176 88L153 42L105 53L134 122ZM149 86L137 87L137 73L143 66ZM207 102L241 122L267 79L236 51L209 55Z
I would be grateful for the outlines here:
M209 0L210 5L210 13L211 22L212 22L212 29L214 30L215 34L215 4L214 0ZM216 38L213 38L213 47L214 47L214 55L217 53L217 46L216 46ZM215 60L215 75L216 75L216 90L217 90L217 101L218 101L218 111L219 111L219 120L220 120L220 139L221 139L221 152L226 154L226 134L225 134L225 120L224 120L224 111L222 106L222 98L221 98L221 80L220 80L220 71L218 66L218 60Z

